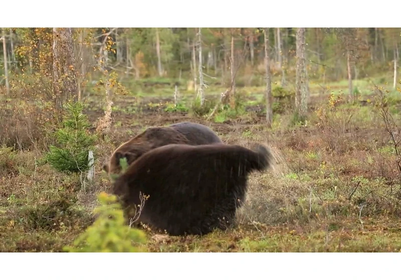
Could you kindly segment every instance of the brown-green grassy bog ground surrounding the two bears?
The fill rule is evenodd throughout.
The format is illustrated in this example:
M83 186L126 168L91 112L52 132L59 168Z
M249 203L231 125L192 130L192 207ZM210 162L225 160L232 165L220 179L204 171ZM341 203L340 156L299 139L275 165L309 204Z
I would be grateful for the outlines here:
M354 85L364 99L371 98L365 79L354 81ZM347 90L346 81L327 86L335 95ZM178 107L172 103L173 87L158 87L149 93L115 96L112 131L98 141L95 179L85 185L80 174L67 175L41 163L46 142L32 144L26 135L39 133L35 130L39 126L25 125L24 118L11 123L9 116L0 114L2 123L14 128L22 125L12 130L15 134L8 130L7 141L5 136L1 139L8 146L13 146L13 141L16 145L0 148L0 251L62 251L92 224L96 194L109 188L102 164L113 149L146 127L188 120L210 126L230 144L267 143L277 164L274 170L251 175L236 227L206 236L181 237L145 229L149 251L401 249L401 174L394 146L373 105L338 103L329 110L330 90L322 94L319 85L311 84L307 125L292 124L291 108L286 107L275 113L272 128L267 128L262 86L241 88L243 106L223 109L211 121L205 120L205 112L193 113L193 93L185 92L183 85ZM212 100L223 91L223 87L213 87L208 89ZM399 119L399 93L390 95L390 112ZM103 114L99 100L99 96L88 98L87 114L92 123ZM213 102L208 106L213 107ZM258 106L262 109L256 109ZM316 112L319 107L322 114ZM19 148L23 146L19 139L26 141L26 148Z

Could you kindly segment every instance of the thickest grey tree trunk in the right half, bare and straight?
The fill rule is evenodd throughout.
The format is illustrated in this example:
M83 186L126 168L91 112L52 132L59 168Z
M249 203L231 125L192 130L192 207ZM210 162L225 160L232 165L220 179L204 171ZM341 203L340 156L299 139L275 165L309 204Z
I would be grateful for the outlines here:
M295 81L295 107L303 121L306 118L308 93L308 76L305 57L305 27L297 28L296 34L297 70Z

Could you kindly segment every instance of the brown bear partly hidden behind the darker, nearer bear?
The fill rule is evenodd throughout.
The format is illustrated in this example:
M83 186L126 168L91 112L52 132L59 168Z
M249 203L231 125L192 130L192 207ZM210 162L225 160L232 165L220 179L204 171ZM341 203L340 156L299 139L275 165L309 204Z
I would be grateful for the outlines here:
M169 126L150 127L115 149L108 162L103 165L103 169L109 176L119 174L120 158L125 157L129 165L148 150L167 144L211 143L222 143L222 140L212 129L203 124L186 121Z

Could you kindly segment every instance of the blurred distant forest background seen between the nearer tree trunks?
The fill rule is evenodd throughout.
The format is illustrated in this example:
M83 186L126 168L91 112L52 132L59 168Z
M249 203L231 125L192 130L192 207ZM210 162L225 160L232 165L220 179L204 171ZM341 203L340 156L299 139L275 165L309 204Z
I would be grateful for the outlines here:
M46 33L51 36L52 29L3 28L2 76L5 59L10 73L37 71L35 62L45 63L41 54L52 47L52 42L46 42ZM96 60L102 54L107 61L105 69L115 70L120 79L165 77L193 80L193 86L197 83L197 28L71 29L76 67L89 77L95 74ZM322 81L348 78L348 66L352 79L392 71L393 61L399 57L400 32L401 28L306 28L309 77ZM112 45L100 53L106 33ZM296 28L269 28L273 76L295 76L295 37ZM237 86L263 83L266 69L262 28L202 28L201 43L205 83L229 83L230 61L239 61L240 57L244 57L244 63L238 69ZM259 75L261 80L257 79Z

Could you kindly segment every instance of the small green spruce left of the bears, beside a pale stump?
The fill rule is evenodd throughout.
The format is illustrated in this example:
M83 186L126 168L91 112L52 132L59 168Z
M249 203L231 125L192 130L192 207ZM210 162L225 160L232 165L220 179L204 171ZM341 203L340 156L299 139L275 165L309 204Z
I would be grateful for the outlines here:
M45 160L59 171L83 172L89 168L88 152L94 149L96 136L86 130L90 124L83 109L80 102L67 104L63 128L56 131L59 147L49 146L50 151L45 155Z

